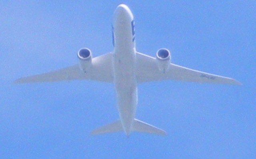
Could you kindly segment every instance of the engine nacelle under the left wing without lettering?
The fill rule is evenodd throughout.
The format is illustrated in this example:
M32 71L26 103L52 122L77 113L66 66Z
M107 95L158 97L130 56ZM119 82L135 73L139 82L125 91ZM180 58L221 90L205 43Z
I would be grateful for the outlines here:
M92 66L92 52L88 48L82 48L77 53L80 70L86 73Z

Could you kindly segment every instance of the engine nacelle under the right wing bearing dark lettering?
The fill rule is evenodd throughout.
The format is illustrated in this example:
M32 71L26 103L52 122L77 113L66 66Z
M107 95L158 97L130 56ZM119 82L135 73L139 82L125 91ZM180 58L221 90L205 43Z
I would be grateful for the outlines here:
M168 49L162 48L156 52L156 61L158 69L165 73L170 68L171 53Z

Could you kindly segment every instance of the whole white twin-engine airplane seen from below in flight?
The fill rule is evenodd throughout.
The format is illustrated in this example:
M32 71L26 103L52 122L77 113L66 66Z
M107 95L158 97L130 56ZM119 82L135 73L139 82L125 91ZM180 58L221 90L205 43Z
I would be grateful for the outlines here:
M112 24L114 50L92 58L88 48L81 48L78 64L60 70L20 78L15 83L55 82L68 80L95 80L114 83L119 119L91 131L91 134L132 131L166 135L166 131L135 118L138 93L137 84L149 81L178 80L199 83L241 85L232 78L209 74L171 63L171 53L166 48L156 52L156 57L136 50L134 16L125 4L117 6Z

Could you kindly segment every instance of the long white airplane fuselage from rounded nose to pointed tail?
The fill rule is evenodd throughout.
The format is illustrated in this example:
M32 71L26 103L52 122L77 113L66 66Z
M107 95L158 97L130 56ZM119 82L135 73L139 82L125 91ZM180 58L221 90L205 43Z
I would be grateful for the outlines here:
M132 12L119 5L113 21L113 67L117 108L126 135L130 135L137 107L136 48Z

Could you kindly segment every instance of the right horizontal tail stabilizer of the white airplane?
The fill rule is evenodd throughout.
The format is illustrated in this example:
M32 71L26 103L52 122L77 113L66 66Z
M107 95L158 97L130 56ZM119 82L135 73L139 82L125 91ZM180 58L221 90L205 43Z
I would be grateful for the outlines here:
M145 123L143 121L140 121L138 119L134 119L133 125L132 125L132 131L139 131L144 133L154 133L158 135L166 135L166 131L159 129L158 127L155 127L153 125L150 125L148 123Z

